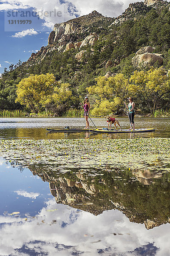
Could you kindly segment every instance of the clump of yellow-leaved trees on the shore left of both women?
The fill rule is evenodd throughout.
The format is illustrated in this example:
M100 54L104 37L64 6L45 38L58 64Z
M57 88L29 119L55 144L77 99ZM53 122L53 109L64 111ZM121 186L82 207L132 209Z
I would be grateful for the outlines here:
M31 75L24 78L17 85L17 99L21 105L26 106L34 112L42 108L60 105L71 99L71 85L59 83L53 74Z

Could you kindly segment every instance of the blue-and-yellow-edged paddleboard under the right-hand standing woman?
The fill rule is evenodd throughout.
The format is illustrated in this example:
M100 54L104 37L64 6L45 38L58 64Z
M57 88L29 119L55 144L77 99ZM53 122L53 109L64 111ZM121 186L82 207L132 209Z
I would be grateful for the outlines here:
M131 131L131 130L104 130L104 129L90 129L90 132L94 132L94 133L107 133L107 134L119 134L119 133L137 133L137 132L152 132L155 131L155 129L153 128L143 128L143 129L135 129L135 131Z

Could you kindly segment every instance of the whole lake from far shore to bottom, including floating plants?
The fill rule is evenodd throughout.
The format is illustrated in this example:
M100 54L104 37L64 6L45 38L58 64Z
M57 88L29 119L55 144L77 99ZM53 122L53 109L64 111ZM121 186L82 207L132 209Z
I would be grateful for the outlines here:
M0 256L170 256L169 125L136 118L156 132L133 139L46 133L82 118L0 118Z

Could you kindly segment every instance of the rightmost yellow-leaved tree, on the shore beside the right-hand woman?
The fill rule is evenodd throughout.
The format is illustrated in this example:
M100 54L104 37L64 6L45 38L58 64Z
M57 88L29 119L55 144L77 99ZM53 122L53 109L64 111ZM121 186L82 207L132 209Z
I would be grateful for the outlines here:
M170 93L170 79L162 67L135 71L130 77L129 90L141 97L153 115L159 103Z

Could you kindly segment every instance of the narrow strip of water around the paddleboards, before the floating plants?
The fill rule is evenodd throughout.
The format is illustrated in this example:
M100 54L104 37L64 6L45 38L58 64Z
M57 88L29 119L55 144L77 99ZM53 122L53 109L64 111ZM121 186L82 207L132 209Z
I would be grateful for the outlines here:
M105 119L93 119L96 127L107 127ZM127 118L119 118L123 129L129 128ZM136 118L136 128L155 128L154 133L139 134L93 134L93 133L48 133L46 128L84 128L84 118L0 118L0 138L31 139L114 139L130 137L170 137L170 118ZM94 128L91 123L91 128Z

